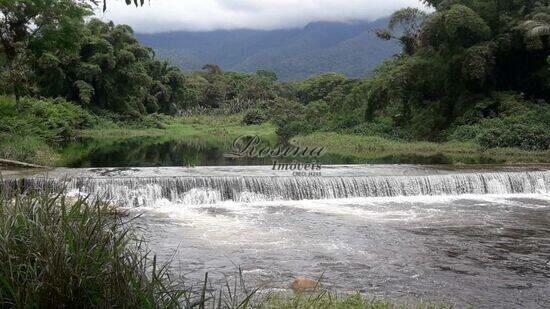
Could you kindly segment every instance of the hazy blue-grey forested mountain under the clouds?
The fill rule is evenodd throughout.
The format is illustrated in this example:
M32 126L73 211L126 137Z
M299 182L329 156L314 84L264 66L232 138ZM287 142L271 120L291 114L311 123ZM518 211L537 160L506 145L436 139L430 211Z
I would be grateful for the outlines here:
M184 70L215 63L224 70L270 70L282 80L302 79L323 72L362 77L382 60L399 52L393 42L378 39L374 22L316 22L299 29L219 30L136 34L160 58Z

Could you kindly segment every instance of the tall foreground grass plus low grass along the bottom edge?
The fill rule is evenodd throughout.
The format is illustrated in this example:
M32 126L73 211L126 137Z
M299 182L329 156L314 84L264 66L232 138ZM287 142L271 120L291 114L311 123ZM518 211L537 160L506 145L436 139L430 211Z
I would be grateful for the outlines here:
M440 308L400 306L359 294L272 294L247 289L242 273L196 288L159 265L115 207L63 190L8 191L0 179L2 308Z

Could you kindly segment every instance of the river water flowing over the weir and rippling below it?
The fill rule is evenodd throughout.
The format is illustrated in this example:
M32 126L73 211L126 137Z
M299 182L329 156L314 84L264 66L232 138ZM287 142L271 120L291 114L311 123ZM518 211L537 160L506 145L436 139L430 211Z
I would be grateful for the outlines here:
M338 291L457 307L550 307L550 171L413 165L58 169L141 215L149 246L190 282L241 267L250 286L297 276ZM65 178L68 177L68 178Z

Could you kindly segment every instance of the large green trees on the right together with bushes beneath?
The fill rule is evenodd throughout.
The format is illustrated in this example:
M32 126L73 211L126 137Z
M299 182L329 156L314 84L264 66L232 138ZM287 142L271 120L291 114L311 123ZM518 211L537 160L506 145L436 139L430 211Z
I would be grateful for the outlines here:
M358 88L366 98L365 120L392 117L418 139L440 140L451 130L452 139L475 139L487 147L547 148L547 122L525 111L514 118L507 104L548 106L550 70L547 52L541 52L550 43L544 30L548 4L425 2L435 11L412 36L414 52L404 46L403 55L382 64ZM414 16L400 10L389 28ZM503 99L502 90L513 98Z

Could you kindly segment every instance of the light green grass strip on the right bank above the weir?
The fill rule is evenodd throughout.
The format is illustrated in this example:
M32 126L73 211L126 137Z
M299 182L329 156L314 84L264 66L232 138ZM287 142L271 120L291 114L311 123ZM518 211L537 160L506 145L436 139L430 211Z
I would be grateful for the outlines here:
M302 147L325 147L328 154L350 158L355 163L550 163L550 150L483 147L471 142L402 142L377 136L318 132L291 139Z

